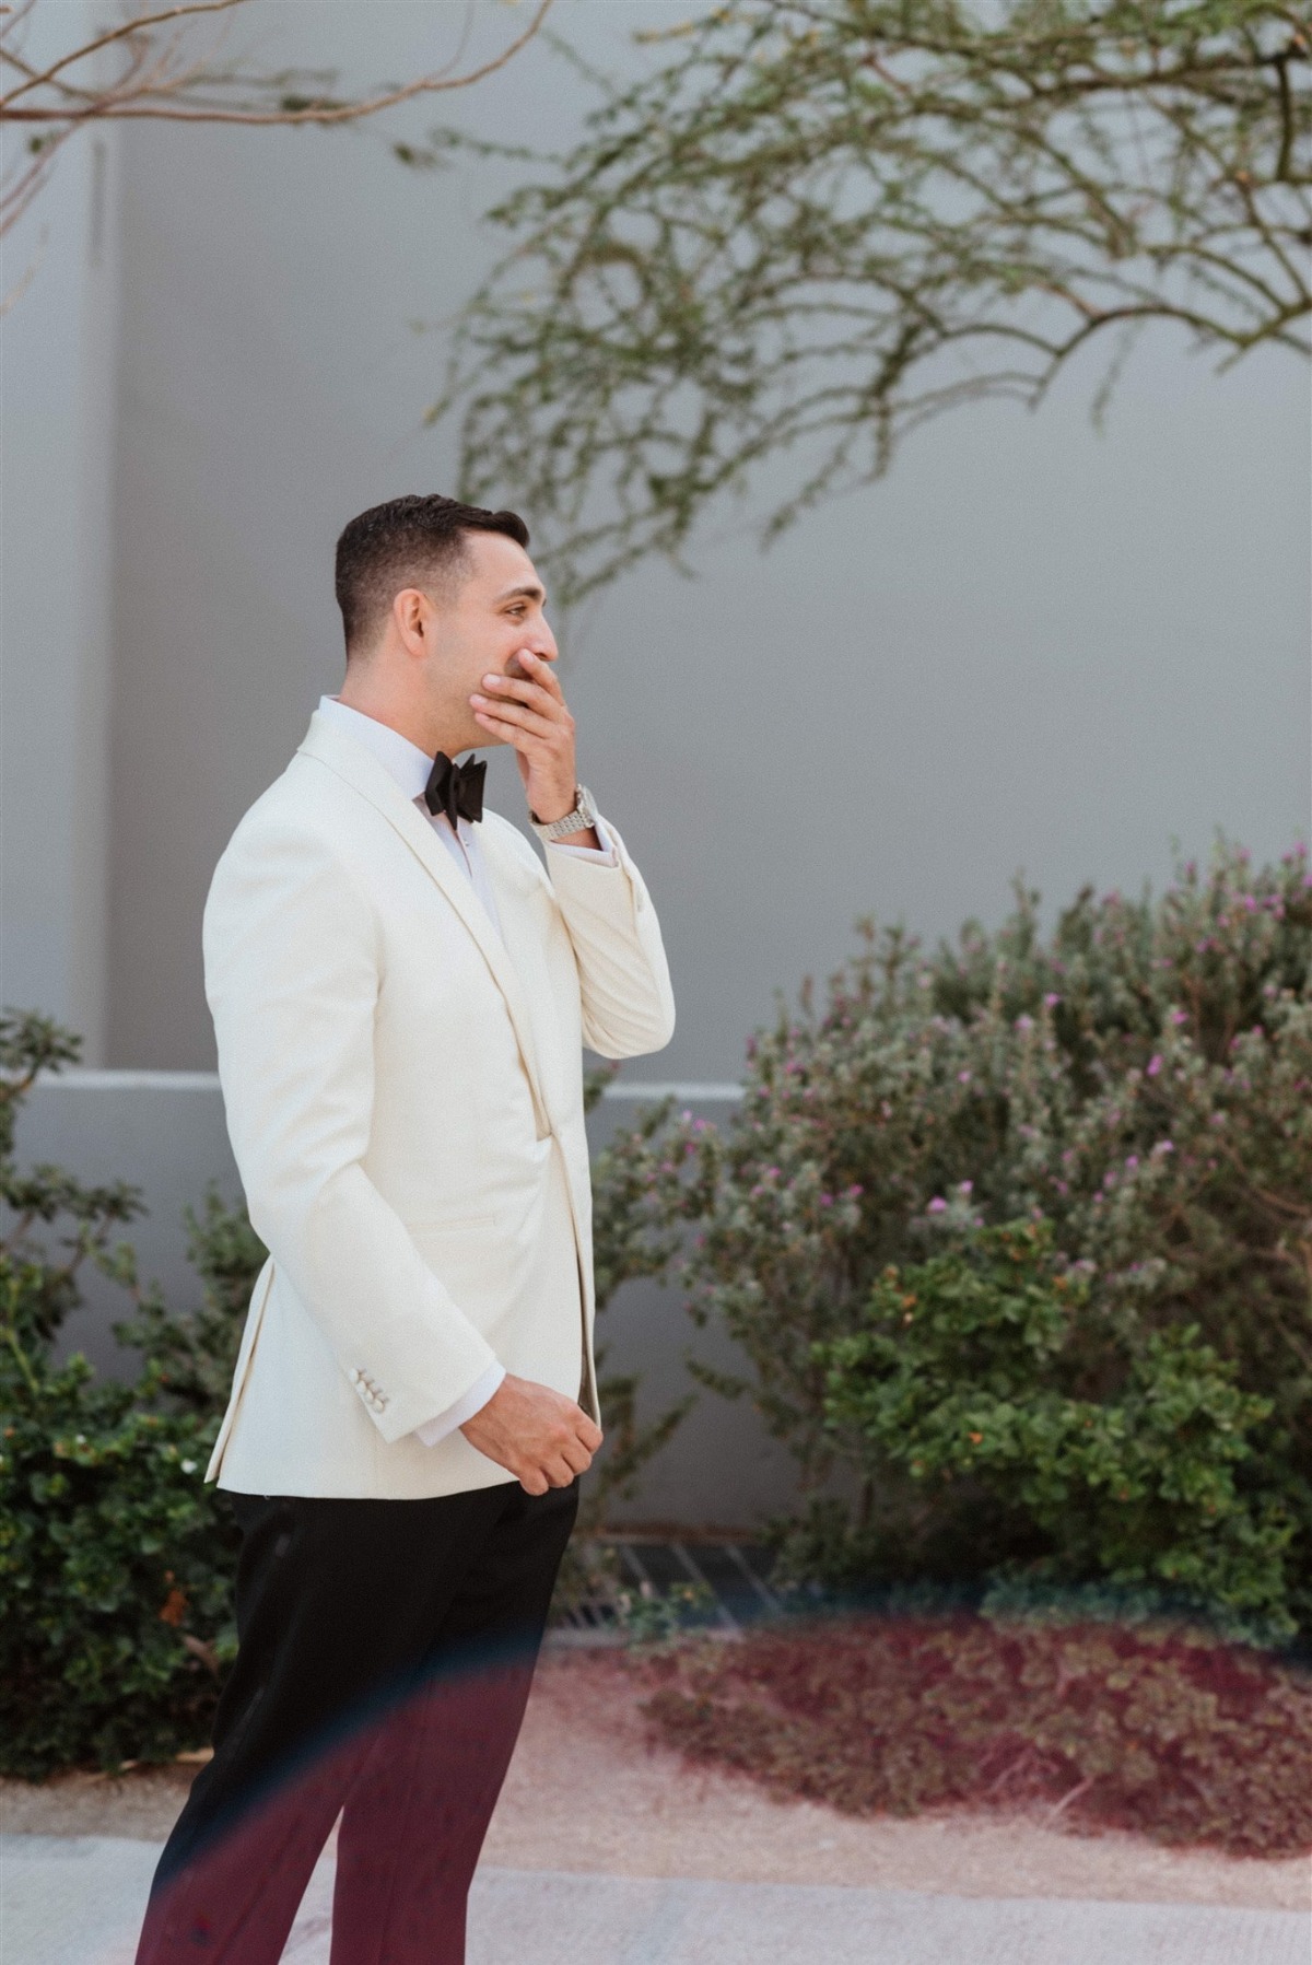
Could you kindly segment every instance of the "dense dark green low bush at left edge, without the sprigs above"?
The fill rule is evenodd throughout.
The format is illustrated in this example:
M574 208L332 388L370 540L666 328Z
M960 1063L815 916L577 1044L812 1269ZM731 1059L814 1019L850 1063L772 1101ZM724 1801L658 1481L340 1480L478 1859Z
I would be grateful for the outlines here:
M149 1379L27 1364L2 1385L0 1772L171 1759L206 1739L236 1649L212 1429L145 1409Z

